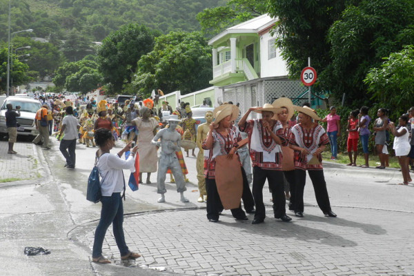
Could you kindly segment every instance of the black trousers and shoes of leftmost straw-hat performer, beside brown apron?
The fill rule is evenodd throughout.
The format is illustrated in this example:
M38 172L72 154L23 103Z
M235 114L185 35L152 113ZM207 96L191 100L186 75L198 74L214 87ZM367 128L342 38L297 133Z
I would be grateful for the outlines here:
M215 179L206 178L206 192L207 192L207 219L219 219L219 213L223 210L223 204L219 193L217 192L217 185ZM243 219L246 213L242 210L242 204L239 208L230 210L233 217L236 219Z

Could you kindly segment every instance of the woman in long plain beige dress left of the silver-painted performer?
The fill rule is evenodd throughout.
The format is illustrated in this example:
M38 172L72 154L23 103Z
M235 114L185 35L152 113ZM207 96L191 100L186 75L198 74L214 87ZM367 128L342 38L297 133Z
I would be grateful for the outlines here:
M139 115L131 124L138 130L137 145L139 156L139 184L142 183L142 172L147 173L146 183L151 184L151 172L157 171L157 147L151 144L155 132L157 132L158 122L151 118L151 110L143 106L139 110Z

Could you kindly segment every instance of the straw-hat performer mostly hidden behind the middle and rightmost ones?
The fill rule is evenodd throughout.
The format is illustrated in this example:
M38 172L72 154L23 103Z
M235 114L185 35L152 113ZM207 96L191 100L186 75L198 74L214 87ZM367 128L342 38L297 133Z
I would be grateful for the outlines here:
M279 120L284 135L286 139L288 139L290 128L292 127L289 122L294 113L293 103L290 99L282 97L273 101L272 106L275 108L282 108L282 111L279 112L277 116L273 117L273 119ZM282 171L284 174L285 197L286 199L290 199L289 210L293 210L293 201L295 201L295 199L292 197L292 193L289 195L289 192L290 186L294 187L295 185L295 162L293 161L293 150L289 146L282 146Z

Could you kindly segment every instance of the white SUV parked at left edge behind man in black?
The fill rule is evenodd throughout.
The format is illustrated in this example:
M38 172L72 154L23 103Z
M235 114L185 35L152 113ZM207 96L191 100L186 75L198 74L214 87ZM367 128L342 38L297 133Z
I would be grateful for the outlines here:
M37 110L40 109L40 101L31 99L29 97L7 97L0 108L0 133L7 133L6 127L6 104L11 103L13 109L20 106L20 117L17 117L17 135L32 135L36 136L39 131L34 125L34 117L36 117Z

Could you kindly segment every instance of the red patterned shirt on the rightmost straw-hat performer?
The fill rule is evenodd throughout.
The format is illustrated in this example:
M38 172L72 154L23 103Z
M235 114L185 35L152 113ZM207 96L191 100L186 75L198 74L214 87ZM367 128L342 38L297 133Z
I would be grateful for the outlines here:
M306 148L308 152L315 152L319 146L329 143L328 135L322 126L316 125L310 130L302 128L301 124L297 124L290 129L289 144L299 146L300 148ZM303 156L299 150L294 150L295 168L299 170L322 170L322 156L317 155L319 164L308 164L308 157Z

